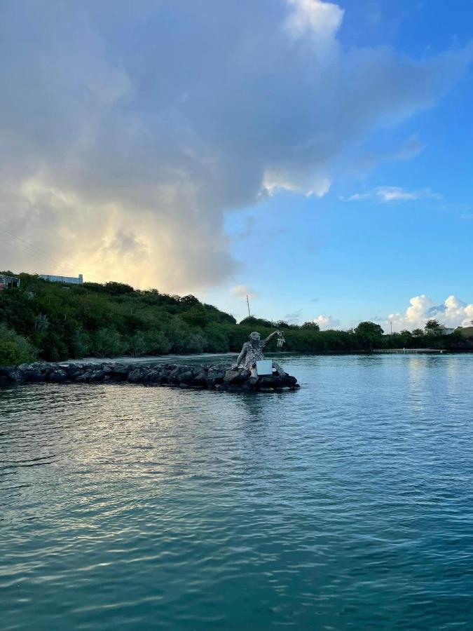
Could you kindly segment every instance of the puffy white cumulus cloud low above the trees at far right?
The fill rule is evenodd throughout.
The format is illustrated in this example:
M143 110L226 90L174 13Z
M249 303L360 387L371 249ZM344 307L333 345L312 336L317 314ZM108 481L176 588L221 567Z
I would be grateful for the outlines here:
M415 296L405 313L392 313L388 320L393 331L423 329L427 320L439 320L446 327L468 327L473 320L473 304L466 304L455 296L449 296L442 304L435 304L425 294Z

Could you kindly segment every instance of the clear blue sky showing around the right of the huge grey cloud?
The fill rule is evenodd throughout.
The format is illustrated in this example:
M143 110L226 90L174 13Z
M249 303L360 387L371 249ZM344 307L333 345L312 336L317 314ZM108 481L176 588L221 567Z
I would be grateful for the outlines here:
M345 46L390 45L401 55L422 57L465 44L472 34L467 1L454 9L443 1L339 4ZM369 319L389 330L389 314L404 315L411 297L427 294L442 303L454 294L472 301L472 110L470 71L430 109L370 139L373 151L389 155L411 138L418 154L345 173L322 199L282 193L228 217L231 234L244 233L245 220L251 222L252 234L235 238L233 247L238 257L258 252L259 274L249 285L259 294L250 301L252 311L299 321L329 314L340 327ZM346 201L386 186L419 191L419 198ZM238 280L245 285L248 276ZM219 291L210 296L245 315L245 303L237 308ZM437 316L443 315L440 309Z

